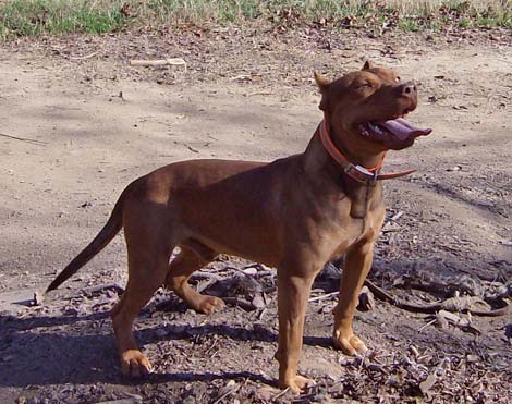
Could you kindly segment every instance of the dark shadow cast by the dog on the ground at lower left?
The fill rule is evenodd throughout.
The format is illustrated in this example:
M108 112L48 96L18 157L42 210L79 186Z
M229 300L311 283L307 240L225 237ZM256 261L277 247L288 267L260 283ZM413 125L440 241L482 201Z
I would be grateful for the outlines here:
M87 383L161 383L210 381L246 378L273 384L263 375L241 372L163 372L133 380L120 374L117 347L108 311L86 316L19 318L0 315L0 387L87 384ZM84 323L86 326L84 327ZM63 326L66 326L65 329ZM70 327L71 326L71 327ZM166 332L157 332L164 329ZM255 329L229 325L173 326L157 325L136 331L143 345L162 340L193 340L197 335L218 335L236 341L273 344L277 334L261 326ZM306 336L304 343L331 346L330 339ZM191 368L191 370L194 370Z

